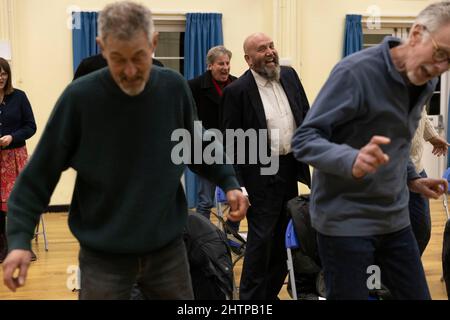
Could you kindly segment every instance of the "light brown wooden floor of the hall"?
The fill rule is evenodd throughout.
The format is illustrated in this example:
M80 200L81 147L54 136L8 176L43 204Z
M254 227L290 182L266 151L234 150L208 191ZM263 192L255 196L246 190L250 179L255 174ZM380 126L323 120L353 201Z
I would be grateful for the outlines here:
M427 250L423 255L425 273L430 287L432 298L435 300L447 299L445 285L441 282L442 266L442 232L446 221L442 201L432 201L432 235ZM78 242L70 234L67 227L67 214L45 215L49 251L44 250L44 242L39 238L33 242L33 250L38 260L32 263L28 273L26 286L16 293L8 291L0 281L0 300L28 299L28 300L72 300L77 299L77 293L68 288L73 283L73 268L78 264ZM241 231L246 231L247 224L241 224ZM1 268L0 268L1 269ZM235 267L237 280L240 278L242 262ZM3 271L0 270L0 279ZM290 299L285 287L280 293L281 299Z

